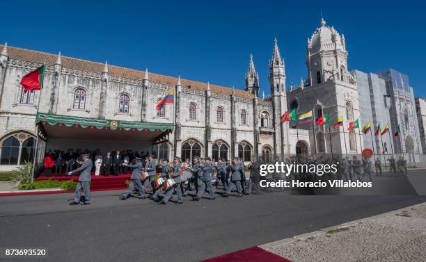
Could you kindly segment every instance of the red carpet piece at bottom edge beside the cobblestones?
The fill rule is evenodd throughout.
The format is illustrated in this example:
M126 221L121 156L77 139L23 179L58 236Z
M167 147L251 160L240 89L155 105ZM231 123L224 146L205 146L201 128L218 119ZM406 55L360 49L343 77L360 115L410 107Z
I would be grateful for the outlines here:
M249 247L236 252L215 256L200 262L291 262L260 247Z

